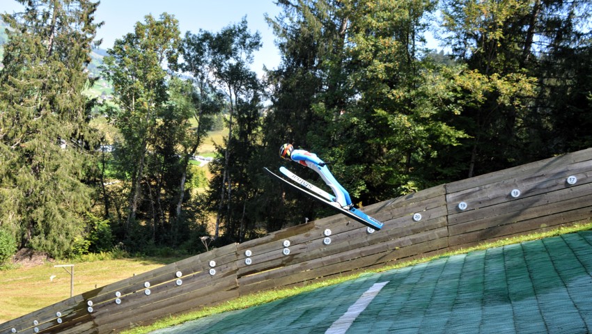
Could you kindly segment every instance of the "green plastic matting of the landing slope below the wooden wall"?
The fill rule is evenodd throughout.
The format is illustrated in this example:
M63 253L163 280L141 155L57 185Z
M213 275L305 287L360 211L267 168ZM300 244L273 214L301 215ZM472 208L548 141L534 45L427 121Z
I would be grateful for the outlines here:
M589 333L592 232L443 257L156 333L325 333L388 281L347 333Z

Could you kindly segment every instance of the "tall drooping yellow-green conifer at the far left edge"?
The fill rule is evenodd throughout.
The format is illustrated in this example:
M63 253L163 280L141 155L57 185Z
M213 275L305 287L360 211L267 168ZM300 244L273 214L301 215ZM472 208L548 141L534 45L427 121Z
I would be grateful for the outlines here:
M0 72L0 225L20 246L66 255L91 206L95 136L84 69L98 3L20 0Z

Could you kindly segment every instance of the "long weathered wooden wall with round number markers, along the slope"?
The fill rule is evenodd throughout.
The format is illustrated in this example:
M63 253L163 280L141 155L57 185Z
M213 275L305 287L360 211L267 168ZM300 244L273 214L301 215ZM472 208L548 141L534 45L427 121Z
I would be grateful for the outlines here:
M380 231L322 218L49 305L0 324L0 334L117 333L237 296L589 221L591 176L588 149L435 186L365 207Z

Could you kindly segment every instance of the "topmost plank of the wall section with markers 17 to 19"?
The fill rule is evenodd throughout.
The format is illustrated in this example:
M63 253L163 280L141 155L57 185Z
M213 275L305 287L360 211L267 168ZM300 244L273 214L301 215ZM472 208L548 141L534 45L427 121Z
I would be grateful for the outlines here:
M465 189L476 188L485 184L492 184L507 180L513 177L524 177L533 173L539 173L541 170L549 170L552 168L558 168L559 166L566 166L569 164L576 164L582 161L589 161L592 159L592 148L581 150L569 154L563 154L558 157L552 157L545 160L533 162L531 164L525 164L505 170L499 170L497 172L480 175L478 177L472 177L466 180L460 180L457 182L451 182L446 184L446 191L448 193L455 193Z

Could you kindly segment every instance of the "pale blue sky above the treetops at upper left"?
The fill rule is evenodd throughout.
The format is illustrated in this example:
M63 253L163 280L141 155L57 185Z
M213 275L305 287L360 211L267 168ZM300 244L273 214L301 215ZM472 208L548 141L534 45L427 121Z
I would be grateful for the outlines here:
M279 8L274 0L101 0L95 21L104 21L97 38L102 38L102 49L113 47L116 39L133 31L136 22L143 22L144 16L159 17L166 12L179 20L182 35L186 31L197 33L199 29L217 32L224 26L240 22L247 16L251 32L259 31L263 47L255 54L252 70L261 74L263 65L275 68L280 57L274 45L272 29L265 22L265 13L275 17ZM0 11L13 13L21 10L14 0L0 0Z

